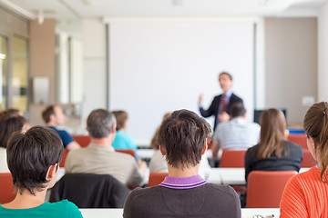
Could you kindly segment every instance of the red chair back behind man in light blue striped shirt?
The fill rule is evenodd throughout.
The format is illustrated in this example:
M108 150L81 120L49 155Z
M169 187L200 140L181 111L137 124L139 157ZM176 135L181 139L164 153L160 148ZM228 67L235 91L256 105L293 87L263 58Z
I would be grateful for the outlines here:
M220 167L244 167L246 150L223 149Z

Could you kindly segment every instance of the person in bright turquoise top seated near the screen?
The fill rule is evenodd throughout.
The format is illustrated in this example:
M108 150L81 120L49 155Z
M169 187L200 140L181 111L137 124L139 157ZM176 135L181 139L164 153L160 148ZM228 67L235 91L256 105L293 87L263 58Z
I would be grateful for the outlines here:
M117 132L112 143L112 146L115 149L132 149L135 151L136 158L138 160L137 155L137 145L134 143L133 138L131 135L127 134L125 130L127 129L128 124L128 113L125 111L113 111L117 120Z

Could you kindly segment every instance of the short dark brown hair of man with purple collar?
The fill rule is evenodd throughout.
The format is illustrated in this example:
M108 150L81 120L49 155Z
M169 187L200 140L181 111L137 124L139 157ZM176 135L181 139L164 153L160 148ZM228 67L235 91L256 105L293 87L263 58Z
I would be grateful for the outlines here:
M173 112L159 128L158 143L165 150L167 163L190 167L200 163L210 124L188 110Z

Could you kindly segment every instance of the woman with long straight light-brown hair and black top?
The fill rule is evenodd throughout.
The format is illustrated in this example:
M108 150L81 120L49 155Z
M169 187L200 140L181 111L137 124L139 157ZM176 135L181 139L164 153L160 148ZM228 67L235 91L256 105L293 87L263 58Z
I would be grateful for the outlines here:
M286 120L282 111L268 109L261 113L260 142L245 154L245 179L251 171L300 171L302 148L285 139Z

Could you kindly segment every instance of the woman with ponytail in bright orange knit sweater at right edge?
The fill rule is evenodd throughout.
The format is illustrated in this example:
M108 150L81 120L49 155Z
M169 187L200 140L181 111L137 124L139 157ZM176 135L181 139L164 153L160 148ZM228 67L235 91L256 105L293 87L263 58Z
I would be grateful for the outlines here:
M328 103L313 104L305 114L303 127L318 167L295 175L286 184L281 217L328 217Z

